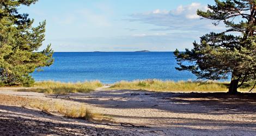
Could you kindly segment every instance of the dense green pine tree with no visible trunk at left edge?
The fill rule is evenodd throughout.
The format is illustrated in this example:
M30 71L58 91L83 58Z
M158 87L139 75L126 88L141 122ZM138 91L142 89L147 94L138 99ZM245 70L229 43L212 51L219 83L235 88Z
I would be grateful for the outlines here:
M53 63L51 45L38 52L44 41L43 21L32 27L28 14L19 14L20 5L31 5L36 0L0 0L0 83L25 85L34 83L29 73Z

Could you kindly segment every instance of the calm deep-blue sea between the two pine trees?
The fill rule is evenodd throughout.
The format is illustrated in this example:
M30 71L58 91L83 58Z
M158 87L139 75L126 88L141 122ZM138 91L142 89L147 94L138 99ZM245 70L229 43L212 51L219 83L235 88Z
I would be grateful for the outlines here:
M148 78L196 79L190 72L175 70L177 65L172 52L56 52L53 57L53 65L32 74L36 81L97 79L102 83L114 83Z

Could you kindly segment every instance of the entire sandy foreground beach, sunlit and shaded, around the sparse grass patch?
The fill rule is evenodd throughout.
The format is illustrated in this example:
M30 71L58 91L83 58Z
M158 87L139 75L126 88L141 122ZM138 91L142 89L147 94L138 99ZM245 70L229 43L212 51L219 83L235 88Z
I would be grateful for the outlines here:
M106 88L107 86L105 86ZM45 95L1 88L4 135L256 135L255 94L172 93L97 89L89 93ZM114 122L90 122L22 108L19 100L83 104ZM135 125L121 125L130 123Z

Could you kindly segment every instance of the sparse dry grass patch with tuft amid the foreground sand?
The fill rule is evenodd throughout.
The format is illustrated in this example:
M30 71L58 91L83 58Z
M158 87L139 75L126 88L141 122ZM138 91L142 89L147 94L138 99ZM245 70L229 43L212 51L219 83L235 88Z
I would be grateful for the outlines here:
M86 108L82 104L78 106L71 106L70 104L61 104L58 101L42 101L35 98L2 94L0 94L0 97L0 105L3 104L21 106L22 108L35 108L47 114L60 115L66 118L78 118L97 122L112 122L111 117L104 114L94 113L92 110Z

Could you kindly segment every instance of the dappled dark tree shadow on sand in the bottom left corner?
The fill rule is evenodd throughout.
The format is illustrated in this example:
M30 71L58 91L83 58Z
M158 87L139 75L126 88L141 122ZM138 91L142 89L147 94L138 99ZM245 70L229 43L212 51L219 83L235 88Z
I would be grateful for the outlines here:
M89 124L108 125L114 129ZM0 126L1 135L132 135L131 129L124 132L120 125L66 119L38 110L3 105L0 105Z

